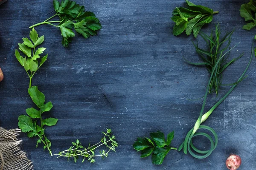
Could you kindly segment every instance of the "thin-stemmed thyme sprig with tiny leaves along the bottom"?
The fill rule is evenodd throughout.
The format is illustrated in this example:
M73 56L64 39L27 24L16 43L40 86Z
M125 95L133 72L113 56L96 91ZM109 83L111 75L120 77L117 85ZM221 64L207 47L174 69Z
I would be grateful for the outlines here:
M81 142L79 142L79 140L77 139L76 142L72 142L73 146L70 146L69 149L64 150L59 152L58 154L55 155L59 155L63 156L63 157L67 157L68 160L70 158L74 159L74 162L77 161L77 159L79 158L79 156L83 157L82 163L84 162L85 159L87 159L88 161L90 161L90 163L94 163L95 162L95 158L98 156L101 156L103 159L105 157L108 157L108 153L113 150L115 151L115 148L118 147L118 143L116 142L116 138L115 136L111 135L112 131L111 129L107 129L107 132L104 133L104 136L102 137L101 141L98 142L97 144L94 144L92 146L88 147L84 147L81 145ZM100 150L99 154L95 154L95 149L98 147L107 147L107 150Z

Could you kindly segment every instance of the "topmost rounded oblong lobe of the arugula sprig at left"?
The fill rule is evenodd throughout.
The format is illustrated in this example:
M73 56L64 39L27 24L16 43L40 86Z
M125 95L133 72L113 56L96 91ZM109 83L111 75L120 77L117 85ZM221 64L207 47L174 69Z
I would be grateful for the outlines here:
M32 86L28 89L29 95L33 102L37 105L38 108L41 108L44 106L45 102L45 96L44 94L38 90L37 86Z

